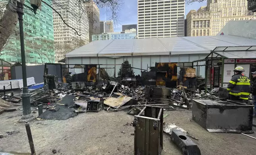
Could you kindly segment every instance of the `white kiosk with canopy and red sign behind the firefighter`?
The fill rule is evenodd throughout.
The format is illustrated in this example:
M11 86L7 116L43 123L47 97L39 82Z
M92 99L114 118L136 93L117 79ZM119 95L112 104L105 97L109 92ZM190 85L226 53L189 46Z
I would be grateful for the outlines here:
M193 61L193 66L206 66L206 88L222 89L227 87L237 66L242 66L244 75L252 78L250 73L256 71L256 46L216 47L205 59Z

